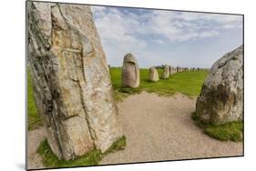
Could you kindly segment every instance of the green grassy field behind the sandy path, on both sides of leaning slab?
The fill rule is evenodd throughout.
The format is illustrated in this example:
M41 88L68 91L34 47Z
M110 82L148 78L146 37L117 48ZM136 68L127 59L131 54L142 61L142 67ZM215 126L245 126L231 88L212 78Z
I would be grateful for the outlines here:
M32 78L30 73L27 73L28 130L32 130L38 126L42 126L42 120L36 111ZM201 85L203 84L207 73L207 71L177 73L169 77L169 79L160 79L158 82L153 83L148 80L148 69L140 69L139 87L122 88L121 68L110 68L111 81L116 101L122 101L125 97L138 94L143 90L155 92L160 96L172 96L175 93L181 93L190 97L199 96ZM162 70L159 70L159 75L162 75Z

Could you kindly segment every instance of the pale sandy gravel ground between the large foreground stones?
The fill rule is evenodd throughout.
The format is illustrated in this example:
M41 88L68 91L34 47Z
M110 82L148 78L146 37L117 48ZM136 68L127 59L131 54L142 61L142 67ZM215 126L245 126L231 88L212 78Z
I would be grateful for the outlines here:
M146 92L118 103L119 117L127 137L123 151L109 154L101 165L213 156L241 156L242 143L220 142L202 133L190 118L196 99ZM29 131L29 167L42 167L36 148L43 129Z

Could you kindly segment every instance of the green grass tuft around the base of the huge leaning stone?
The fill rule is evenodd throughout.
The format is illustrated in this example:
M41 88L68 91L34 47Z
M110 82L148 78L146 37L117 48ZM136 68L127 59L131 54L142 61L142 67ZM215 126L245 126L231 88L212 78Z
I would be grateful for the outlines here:
M42 156L43 164L47 167L68 167L68 166L97 166L99 161L108 153L124 149L126 146L126 137L122 136L112 146L108 148L105 153L100 150L94 149L84 156L78 156L74 160L59 160L52 152L50 146L45 139L41 142L37 149L37 153Z

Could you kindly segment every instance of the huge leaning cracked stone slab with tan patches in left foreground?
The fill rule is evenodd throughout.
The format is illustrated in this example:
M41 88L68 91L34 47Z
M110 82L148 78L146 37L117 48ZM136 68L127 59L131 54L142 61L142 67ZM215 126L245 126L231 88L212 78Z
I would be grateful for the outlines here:
M27 2L38 113L59 158L106 151L122 136L106 56L87 5Z

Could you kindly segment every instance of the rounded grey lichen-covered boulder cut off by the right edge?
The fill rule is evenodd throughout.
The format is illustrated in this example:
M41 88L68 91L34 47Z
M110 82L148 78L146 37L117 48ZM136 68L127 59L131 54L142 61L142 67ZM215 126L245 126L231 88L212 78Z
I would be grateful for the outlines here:
M212 65L197 100L196 112L201 121L210 124L243 119L243 46Z

